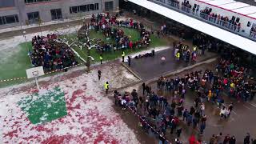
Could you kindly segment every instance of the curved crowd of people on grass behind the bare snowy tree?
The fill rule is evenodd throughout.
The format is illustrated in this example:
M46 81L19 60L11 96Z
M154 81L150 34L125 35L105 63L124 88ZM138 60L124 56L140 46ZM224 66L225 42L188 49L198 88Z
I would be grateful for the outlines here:
M136 42L132 42L131 36L124 34L122 27L138 30L140 38ZM150 45L150 32L145 29L142 22L135 22L133 19L118 20L115 15L93 14L89 24L84 24L83 29L94 29L101 31L106 38L112 38L114 43L99 43L97 50L104 52L108 50L123 50L126 48L140 48Z

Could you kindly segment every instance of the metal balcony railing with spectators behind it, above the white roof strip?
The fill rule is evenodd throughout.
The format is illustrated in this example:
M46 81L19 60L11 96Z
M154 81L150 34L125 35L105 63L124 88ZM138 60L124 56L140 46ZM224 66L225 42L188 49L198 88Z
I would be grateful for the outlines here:
M209 23L214 26L218 26L224 30L230 31L231 33L238 34L244 38L248 38L256 42L256 36L254 31L250 31L250 34L246 33L241 29L241 26L235 25L231 22L223 21L220 18L212 17L209 14L204 14L200 10L193 10L186 6L180 6L181 4L171 0L148 0L150 2L157 3L161 6L170 8L171 10L178 11L179 13L186 14L192 18L196 18L200 21Z

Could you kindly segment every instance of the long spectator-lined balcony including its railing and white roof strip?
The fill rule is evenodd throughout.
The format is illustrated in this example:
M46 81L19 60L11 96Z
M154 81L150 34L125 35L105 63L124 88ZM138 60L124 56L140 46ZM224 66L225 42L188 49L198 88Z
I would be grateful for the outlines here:
M238 26L234 28L234 26L228 23L218 22L217 19L214 20L214 18L210 18L210 16L206 16L206 14L200 14L199 10L198 12L193 12L193 10L182 7L178 3L170 1L158 2L156 0L128 1L214 38L218 38L223 42L230 43L230 45L246 50L251 54L256 54L255 33L251 32L250 34L246 34L242 32L242 28L238 30Z

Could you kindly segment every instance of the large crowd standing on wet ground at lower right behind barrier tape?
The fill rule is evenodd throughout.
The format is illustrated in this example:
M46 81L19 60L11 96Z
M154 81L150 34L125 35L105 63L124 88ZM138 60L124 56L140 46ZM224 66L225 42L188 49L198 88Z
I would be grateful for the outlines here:
M182 123L197 128L199 133L203 134L207 120L205 102L218 106L219 117L228 119L234 104L230 102L227 106L224 105L225 95L238 101L248 101L254 98L256 92L253 81L250 81L250 69L242 66L238 56L232 52L219 59L215 70L195 71L181 78L161 77L158 79L157 87L158 90L170 92L171 100L156 94L150 86L143 83L141 96L138 95L137 90L133 90L131 94L126 92L123 96L115 91L115 103L123 109L131 106L138 111L142 118L140 126L146 132L154 133L154 130L152 131L146 124L148 122L158 130L157 134L166 135L166 131L170 129L170 134L176 134L174 136L176 138L182 133ZM186 90L194 92L194 106L184 106ZM224 139L220 137L219 134L213 135L210 143L222 142L222 140L223 143L235 143L234 136L227 135ZM161 139L162 136L159 138ZM193 141L193 138L190 140ZM198 139L194 142L201 143L202 140Z

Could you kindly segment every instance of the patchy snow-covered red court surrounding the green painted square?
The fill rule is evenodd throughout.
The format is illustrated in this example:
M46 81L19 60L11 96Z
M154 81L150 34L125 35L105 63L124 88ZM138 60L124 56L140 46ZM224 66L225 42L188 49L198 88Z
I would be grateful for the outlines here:
M138 143L122 118L115 113L113 102L104 96L102 84L110 82L110 90L138 81L120 64L99 68L76 78L49 82L39 94L58 86L65 93L67 115L44 124L33 125L18 106L31 91L1 97L0 142L3 143ZM102 91L103 90L103 91Z

